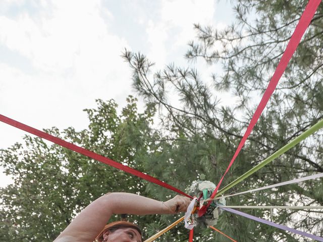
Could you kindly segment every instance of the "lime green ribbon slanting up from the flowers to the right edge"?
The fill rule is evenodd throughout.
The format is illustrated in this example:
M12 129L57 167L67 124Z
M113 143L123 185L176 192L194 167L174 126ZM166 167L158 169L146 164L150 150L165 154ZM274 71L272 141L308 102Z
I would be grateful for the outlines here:
M242 180L244 180L249 175L251 175L254 172L256 172L257 170L259 170L260 168L262 168L266 164L272 162L278 156L284 154L286 151L288 151L289 149L293 148L299 142L301 142L302 140L304 140L305 138L307 138L308 136L310 136L311 134L313 134L317 130L321 129L322 127L323 127L323 119L319 120L315 125L313 125L311 128L309 128L308 130L306 130L304 133L300 134L295 139L293 139L291 142L289 142L288 144L286 144L285 146L283 146L282 148L280 148L278 151L276 151L274 154L272 154L268 158L264 159L262 162L260 162L256 166L252 167L249 171L247 171L246 173L244 173L243 175L241 175L240 177L238 177L237 179L235 179L234 181L232 181L232 183L230 183L229 185L227 185L226 187L224 187L223 189L221 189L217 193L217 195L215 197L219 197L221 194L223 194L224 192L226 192L230 188L234 187L235 185L237 185L238 183L240 183Z

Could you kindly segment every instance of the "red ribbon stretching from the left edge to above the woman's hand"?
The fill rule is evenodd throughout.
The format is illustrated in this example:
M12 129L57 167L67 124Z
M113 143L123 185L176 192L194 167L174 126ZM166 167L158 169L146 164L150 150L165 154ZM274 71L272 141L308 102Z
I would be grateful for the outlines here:
M145 180L150 181L151 183L157 184L157 185L159 185L161 187L170 189L170 190L172 190L174 192L177 192L179 194L182 194L182 195L184 195L186 197L189 197L189 198L193 199L191 196L189 196L188 194L182 192L181 190L178 190L177 188L174 188L173 186L171 186L171 185L169 185L167 183L164 183L164 181L158 180L157 178L154 178L154 177L152 177L150 175L144 174L144 173L142 173L142 172L140 172L138 170L130 168L129 166L125 166L123 164L120 164L120 163L118 163L116 161L113 161L113 160L111 160L109 158L106 158L106 157L101 156L99 154L96 154L96 153L94 153L92 151L89 151L89 150L86 150L84 148L81 148L79 146L73 145L73 144L71 144L71 143L69 143L67 141L64 141L64 140L62 140L60 138L57 138L57 137L52 136L52 135L49 135L49 134L47 134L45 132L42 132L40 130L34 129L34 128L30 127L30 126L27 126L27 125L24 125L22 123L19 123L14 119L11 119L9 117L6 117L6 116L0 114L0 121L6 123L8 125L11 125L13 127L16 127L18 129L21 129L23 131L26 131L26 132L28 132L30 134L33 134L35 136L38 136L40 138L49 140L49 141L51 141L51 142L53 142L55 144L61 145L61 146L65 147L65 148L68 148L70 150L74 150L77 153L80 153L82 155L86 155L86 156L88 156L90 158L93 158L95 160L98 160L98 161L100 161L100 162L102 162L104 164L111 165L111 166L113 166L113 167L115 167L117 169L120 169L120 170L126 171L126 172L128 172L130 174L136 175L136 176L138 176L140 178L143 178Z

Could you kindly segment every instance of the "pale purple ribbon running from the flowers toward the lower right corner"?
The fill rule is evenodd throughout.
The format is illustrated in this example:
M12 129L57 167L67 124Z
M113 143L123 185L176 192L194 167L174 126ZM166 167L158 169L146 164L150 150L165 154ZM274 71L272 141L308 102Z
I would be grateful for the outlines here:
M318 241L323 241L322 237L319 237L319 236L316 236L316 235L313 235L313 234L310 234L310 233L305 233L305 232L299 231L299 230L294 229L294 228L286 227L284 225L280 225L280 224L277 224L277 223L274 223L274 222L271 222L271 221L268 221L268 220L265 220L265 219L262 219L262 218L258 218L258 217L252 216L250 214L247 214L247 213L243 213L243 212L231 209L231 208L221 208L221 209L229 211L231 213L238 214L238 215L246 217L246 218L250 218L250 219L258 221L260 223L265 223L265 224L274 226L276 228L287 230L287 231L290 231L290 232L293 232L293 233L298 233L298 234L300 234L302 236L313 238L313 239L316 239Z

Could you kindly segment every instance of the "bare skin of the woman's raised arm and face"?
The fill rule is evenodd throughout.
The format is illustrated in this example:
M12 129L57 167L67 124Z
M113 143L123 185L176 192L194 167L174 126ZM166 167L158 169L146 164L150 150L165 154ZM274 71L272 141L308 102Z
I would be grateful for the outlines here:
M110 217L114 214L176 214L179 212L185 212L189 203L189 198L179 195L166 202L160 202L136 194L108 193L96 199L83 209L82 212L74 218L74 220L54 241L93 242L95 237L100 233L104 225L108 223ZM118 230L119 229L114 232L118 232ZM111 239L114 232L107 234L108 239ZM121 231L121 233L123 236L127 235L124 231ZM122 240L121 238L117 238L108 241L141 241L140 237L136 239L137 240Z

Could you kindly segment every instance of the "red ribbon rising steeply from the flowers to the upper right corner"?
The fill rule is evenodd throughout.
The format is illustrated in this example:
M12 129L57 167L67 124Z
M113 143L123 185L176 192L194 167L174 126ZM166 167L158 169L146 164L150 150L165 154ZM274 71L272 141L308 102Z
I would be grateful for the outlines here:
M224 176L228 173L230 167L232 166L233 162L235 161L235 159L237 158L241 148L243 147L244 143L246 142L248 136L250 135L253 127L255 126L255 124L257 123L258 121L258 118L260 116L260 114L262 113L264 107L266 106L269 98L271 97L271 95L273 94L273 92L275 91L275 88L280 80L280 78L282 77L292 55L294 54L305 30L307 29L307 27L309 26L315 12L316 12L316 9L318 7L318 5L320 4L321 0L309 0L296 28L295 28L295 31L291 37L291 39L289 40L289 43L286 47L286 50L281 58L281 61L279 62L276 70L275 70L275 73L270 81L270 83L268 84L267 86L267 89L265 90L262 98L261 98L261 101L255 111L255 113L253 114L252 118L251 118L251 121L250 121L250 124L244 134L244 136L242 137L241 141L240 141L240 144L233 156L233 158L231 159L230 163L229 163L229 166L226 170L226 172L224 173L224 175L222 176L222 178L220 179L216 189L213 191L212 195L211 195L211 199L214 198L214 196L217 195L217 192L220 188L220 185L222 183L222 180L224 178ZM205 212L206 212L206 209L207 207L210 205L211 201L209 201L207 203L206 206L203 206L199 211L198 211L198 216L202 216Z

